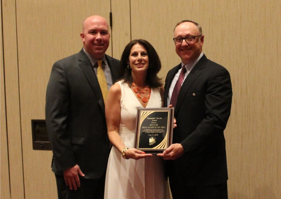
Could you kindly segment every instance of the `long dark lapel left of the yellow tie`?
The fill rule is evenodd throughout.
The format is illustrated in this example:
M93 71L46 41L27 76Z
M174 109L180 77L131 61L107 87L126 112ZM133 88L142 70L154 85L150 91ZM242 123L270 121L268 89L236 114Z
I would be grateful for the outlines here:
M102 108L102 112L104 113L104 101L102 97L102 91L100 90L100 86L97 86L99 85L99 82L97 81L97 76L94 72L94 69L92 68L92 64L89 58L84 53L83 49L79 52L79 61L80 61L79 66L83 70L86 78L88 79L88 82L91 85L92 90L95 93L95 96L97 97L97 101Z

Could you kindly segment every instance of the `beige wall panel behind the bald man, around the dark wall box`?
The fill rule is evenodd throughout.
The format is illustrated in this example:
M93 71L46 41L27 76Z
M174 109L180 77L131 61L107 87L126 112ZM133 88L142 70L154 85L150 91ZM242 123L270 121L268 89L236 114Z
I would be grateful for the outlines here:
M32 150L31 119L45 118L45 93L56 60L80 51L82 23L109 21L110 0L17 1L18 71L25 198L56 198L51 151ZM107 53L111 52L111 44Z

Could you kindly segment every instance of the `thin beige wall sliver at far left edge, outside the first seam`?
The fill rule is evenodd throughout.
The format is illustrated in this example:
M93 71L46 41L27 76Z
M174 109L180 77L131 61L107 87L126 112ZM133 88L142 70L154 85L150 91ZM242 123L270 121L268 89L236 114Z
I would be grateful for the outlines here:
M2 21L2 11L1 11L1 19ZM3 40L2 40L2 23L1 23L1 34L0 34L0 65L1 65L1 72L0 72L0 84L1 84L1 125L0 125L0 198L3 199L10 199L11 198L11 190L10 190L10 179L9 179L9 159L8 159L8 139L7 139L7 125L6 125L6 101L5 101L5 82L4 82L4 56L3 56Z

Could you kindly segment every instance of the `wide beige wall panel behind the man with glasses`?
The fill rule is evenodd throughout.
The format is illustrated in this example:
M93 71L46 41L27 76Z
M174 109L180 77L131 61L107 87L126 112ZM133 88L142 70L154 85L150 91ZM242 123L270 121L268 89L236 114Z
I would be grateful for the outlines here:
M281 1L131 1L132 39L148 40L160 77L180 63L172 41L178 21L201 24L206 56L232 78L225 130L229 198L281 197ZM145 11L145 12L144 12Z

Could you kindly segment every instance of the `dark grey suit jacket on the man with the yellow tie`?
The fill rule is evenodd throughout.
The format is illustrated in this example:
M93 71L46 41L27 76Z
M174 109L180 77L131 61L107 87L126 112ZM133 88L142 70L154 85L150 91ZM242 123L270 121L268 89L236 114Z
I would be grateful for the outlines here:
M106 59L114 83L119 78L119 60L107 55ZM45 113L54 155L53 172L62 175L64 169L78 164L85 178L100 178L109 155L104 101L83 49L54 63Z

